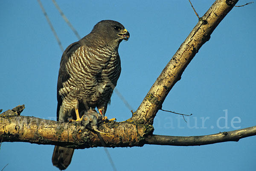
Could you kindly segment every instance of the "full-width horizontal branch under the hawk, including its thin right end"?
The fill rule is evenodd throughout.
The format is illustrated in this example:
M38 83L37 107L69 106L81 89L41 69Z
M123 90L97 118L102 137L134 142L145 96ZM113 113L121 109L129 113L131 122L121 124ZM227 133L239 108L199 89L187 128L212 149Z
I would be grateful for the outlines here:
M16 109L23 110L22 107ZM153 127L125 122L108 122L99 126L101 132L85 129L76 123L60 123L29 116L19 116L15 109L0 115L2 142L29 142L84 149L90 147L132 147L144 144L170 146L201 146L225 141L238 141L256 135L256 126L214 135L176 137L152 135ZM98 137L101 136L101 137ZM102 143L102 140L104 143Z

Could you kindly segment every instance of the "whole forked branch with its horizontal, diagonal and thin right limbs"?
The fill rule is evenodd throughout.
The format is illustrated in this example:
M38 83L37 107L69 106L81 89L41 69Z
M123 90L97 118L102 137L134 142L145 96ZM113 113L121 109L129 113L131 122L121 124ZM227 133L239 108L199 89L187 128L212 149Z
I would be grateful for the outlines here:
M19 106L0 115L1 142L51 144L73 149L97 147L102 144L105 147L132 147L144 144L199 146L224 141L238 141L241 138L256 135L255 126L206 136L152 135L154 117L161 109L169 91L180 80L186 66L198 53L201 46L210 39L212 31L237 1L215 1L163 69L132 117L123 122L110 121L99 125L98 129L108 134L90 131L80 123L61 123L20 116L24 106Z

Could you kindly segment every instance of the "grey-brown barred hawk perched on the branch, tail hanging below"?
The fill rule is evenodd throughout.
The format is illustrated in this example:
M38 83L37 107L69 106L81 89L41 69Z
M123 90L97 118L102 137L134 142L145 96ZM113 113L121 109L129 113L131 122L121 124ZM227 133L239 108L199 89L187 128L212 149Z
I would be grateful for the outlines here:
M87 36L67 47L61 57L57 84L57 121L81 121L90 108L105 116L120 76L119 43L129 32L119 22L102 20ZM64 170L74 149L55 146L52 164Z

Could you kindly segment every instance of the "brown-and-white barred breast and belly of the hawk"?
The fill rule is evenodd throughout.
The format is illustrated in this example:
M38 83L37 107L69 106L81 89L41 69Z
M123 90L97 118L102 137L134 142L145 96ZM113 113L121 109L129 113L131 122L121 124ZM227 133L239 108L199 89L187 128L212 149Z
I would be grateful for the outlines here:
M65 64L70 78L59 90L64 109L74 109L79 103L90 107L107 109L113 89L121 73L117 50L106 47L81 46Z

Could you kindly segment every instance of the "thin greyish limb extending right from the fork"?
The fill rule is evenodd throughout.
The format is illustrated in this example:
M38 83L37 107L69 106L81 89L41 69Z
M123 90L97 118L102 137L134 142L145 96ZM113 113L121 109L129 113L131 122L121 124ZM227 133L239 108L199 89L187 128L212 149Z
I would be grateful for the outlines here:
M256 126L204 136L180 137L166 135L151 135L145 138L145 144L167 146L201 146L227 141L239 141L241 138L250 137L253 135L256 135Z

